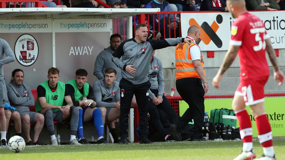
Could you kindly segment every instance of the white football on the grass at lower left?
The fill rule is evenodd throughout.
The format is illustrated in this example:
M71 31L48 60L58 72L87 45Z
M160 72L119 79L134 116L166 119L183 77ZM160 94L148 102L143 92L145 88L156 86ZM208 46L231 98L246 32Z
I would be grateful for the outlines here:
M19 153L25 149L26 142L21 136L13 136L8 142L8 147L11 151Z

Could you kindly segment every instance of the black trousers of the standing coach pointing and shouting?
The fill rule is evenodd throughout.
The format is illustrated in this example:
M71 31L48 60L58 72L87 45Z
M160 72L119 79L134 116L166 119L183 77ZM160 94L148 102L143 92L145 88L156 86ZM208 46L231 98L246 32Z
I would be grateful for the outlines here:
M120 136L127 137L127 129L129 126L129 113L130 107L132 103L133 96L135 94L138 110L140 115L140 131L141 137L147 136L147 127L148 127L148 117L147 117L147 110L148 110L148 90L150 88L150 82L144 82L142 84L134 85L128 80L124 78L121 79L120 84L120 99L121 99L121 106L120 106Z

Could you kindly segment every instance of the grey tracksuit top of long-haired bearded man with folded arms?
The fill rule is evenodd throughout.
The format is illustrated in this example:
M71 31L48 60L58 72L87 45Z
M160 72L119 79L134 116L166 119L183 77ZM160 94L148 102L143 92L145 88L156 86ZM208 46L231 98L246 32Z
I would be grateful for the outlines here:
M7 84L7 92L10 105L17 108L18 112L30 111L29 107L35 105L32 91L25 84L18 87L10 82Z

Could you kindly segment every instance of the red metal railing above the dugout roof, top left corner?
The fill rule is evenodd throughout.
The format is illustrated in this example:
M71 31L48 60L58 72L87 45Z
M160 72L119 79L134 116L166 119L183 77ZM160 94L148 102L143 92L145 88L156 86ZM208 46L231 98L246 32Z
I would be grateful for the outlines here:
M27 7L27 3L35 3L35 7L47 7L46 5L44 5L42 2L40 2L39 0L1 0L0 1L0 8L6 8L6 4L8 8L11 8L11 6L14 6L14 8L18 7L21 8L22 5L17 5L16 3L23 3L25 2L25 7ZM14 3L13 5L11 5L10 3Z

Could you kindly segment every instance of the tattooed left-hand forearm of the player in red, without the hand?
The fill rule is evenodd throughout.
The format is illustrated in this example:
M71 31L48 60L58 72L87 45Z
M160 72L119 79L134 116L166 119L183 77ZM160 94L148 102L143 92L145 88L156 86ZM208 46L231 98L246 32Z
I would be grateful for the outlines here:
M229 50L227 51L223 63L219 69L218 74L224 74L225 71L231 66L235 57L237 57L237 51L239 50L240 46L230 45Z

